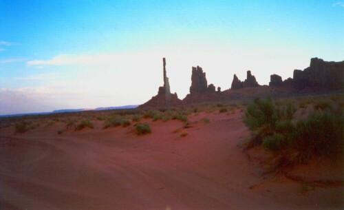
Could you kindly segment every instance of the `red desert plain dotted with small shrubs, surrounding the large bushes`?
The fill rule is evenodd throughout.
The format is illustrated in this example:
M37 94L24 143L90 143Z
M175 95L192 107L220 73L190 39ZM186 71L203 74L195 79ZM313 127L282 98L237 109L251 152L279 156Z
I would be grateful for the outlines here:
M343 108L341 94L274 103L287 102L293 118ZM243 122L248 106L1 118L1 209L343 208L343 156L281 165L295 151L255 144ZM145 123L149 130L138 129Z

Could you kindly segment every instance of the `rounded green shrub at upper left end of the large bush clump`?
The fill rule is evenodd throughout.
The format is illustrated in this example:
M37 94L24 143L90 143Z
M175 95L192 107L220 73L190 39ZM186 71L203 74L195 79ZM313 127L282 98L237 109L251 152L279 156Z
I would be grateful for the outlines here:
M255 98L246 108L244 123L252 130L262 126L274 126L277 120L276 107L271 98Z

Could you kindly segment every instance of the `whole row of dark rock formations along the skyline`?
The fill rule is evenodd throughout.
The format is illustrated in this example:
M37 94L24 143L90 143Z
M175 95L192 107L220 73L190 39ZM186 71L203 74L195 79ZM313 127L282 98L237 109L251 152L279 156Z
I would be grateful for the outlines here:
M282 81L277 74L270 75L270 83L259 85L255 76L247 71L245 81L240 81L234 74L230 90L221 92L221 88L213 84L208 85L206 73L202 67L192 67L190 94L181 101L177 94L171 94L169 78L166 76L166 61L164 63L164 86L159 87L158 95L151 98L140 107L162 107L168 105L180 105L191 103L203 103L208 101L227 101L233 99L250 99L257 96L281 97L295 96L297 94L318 94L337 92L343 90L344 61L327 62L314 58L310 61L310 67L305 70L294 70L293 78Z

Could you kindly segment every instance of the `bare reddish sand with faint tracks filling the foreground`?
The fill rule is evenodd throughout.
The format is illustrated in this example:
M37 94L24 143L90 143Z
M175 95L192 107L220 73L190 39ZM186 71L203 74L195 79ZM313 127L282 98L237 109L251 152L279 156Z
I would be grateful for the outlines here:
M242 113L75 132L0 130L0 209L341 209L343 187L264 174L243 152ZM210 123L204 123L204 117ZM178 132L173 132L176 129ZM181 134L187 133L186 136Z

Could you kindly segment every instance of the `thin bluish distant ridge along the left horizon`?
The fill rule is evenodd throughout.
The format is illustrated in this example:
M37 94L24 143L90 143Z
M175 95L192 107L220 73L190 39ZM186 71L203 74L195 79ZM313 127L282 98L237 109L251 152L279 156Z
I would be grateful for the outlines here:
M97 107L96 109L58 109L52 112L34 112L34 113L24 113L24 114L3 114L0 117L6 116L24 116L24 115L36 115L36 114L56 114L63 112L83 112L83 111L100 111L100 110L110 110L110 109L135 109L138 105L125 105L119 107Z

